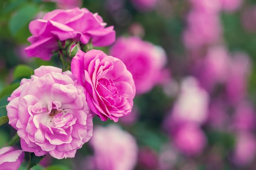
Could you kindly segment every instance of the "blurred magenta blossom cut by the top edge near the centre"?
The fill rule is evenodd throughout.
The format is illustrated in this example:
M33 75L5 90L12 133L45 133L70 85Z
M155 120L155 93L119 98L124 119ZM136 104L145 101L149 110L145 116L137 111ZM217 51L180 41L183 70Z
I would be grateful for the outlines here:
M130 0L130 1L132 2L133 6L137 10L141 12L146 12L154 9L160 0Z

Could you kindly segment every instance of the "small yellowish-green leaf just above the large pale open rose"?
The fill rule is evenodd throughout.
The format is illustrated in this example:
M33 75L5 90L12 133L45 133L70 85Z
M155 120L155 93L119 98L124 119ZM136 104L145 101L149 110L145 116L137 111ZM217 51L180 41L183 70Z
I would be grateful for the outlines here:
M16 66L13 72L14 79L30 78L34 74L34 69L30 66L20 64Z

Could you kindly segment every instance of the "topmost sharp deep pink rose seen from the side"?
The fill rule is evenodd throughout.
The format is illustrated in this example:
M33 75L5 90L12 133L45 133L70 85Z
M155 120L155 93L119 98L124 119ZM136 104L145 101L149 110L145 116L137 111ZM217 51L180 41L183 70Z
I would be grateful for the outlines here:
M52 52L59 48L58 40L72 39L81 44L92 40L94 46L107 46L115 42L115 31L113 26L105 26L98 13L86 8L56 9L29 23L31 45L25 51L28 57L50 60Z

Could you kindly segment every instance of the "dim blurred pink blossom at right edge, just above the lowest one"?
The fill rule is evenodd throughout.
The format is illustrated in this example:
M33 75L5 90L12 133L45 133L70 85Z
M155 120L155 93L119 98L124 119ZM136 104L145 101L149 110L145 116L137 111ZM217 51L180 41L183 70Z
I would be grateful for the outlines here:
M249 102L236 104L233 116L233 126L236 130L254 130L256 127L256 113Z

